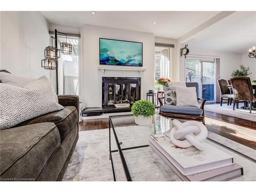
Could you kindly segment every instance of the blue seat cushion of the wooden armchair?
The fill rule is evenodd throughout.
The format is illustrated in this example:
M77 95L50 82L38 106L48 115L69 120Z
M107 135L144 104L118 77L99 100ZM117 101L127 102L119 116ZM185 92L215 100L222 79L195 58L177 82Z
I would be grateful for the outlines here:
M177 106L165 104L160 107L160 111L164 113L175 113L196 116L201 116L203 114L203 110L201 110L197 106Z

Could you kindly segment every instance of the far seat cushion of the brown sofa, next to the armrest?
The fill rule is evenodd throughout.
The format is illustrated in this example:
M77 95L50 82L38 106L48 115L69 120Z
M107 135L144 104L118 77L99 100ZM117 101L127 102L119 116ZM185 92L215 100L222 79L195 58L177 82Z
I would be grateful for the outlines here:
M53 122L58 127L62 141L69 134L74 125L78 123L78 121L79 117L76 108L74 106L65 106L63 110L51 112L46 115L30 119L24 123L35 124L42 122Z

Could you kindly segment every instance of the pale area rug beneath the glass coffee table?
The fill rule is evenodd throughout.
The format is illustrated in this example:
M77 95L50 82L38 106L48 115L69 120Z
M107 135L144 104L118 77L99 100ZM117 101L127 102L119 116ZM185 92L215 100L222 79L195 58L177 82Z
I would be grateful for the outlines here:
M130 126L129 129L119 131L123 127L117 127L116 132L119 136L119 142L124 147L136 146L148 143L148 129L144 126ZM228 145L238 146L238 150L242 153L246 151L246 155L253 154L255 151L243 145L236 145L236 142L223 140L216 134L209 135L211 139L223 142ZM131 137L133 139L131 139ZM116 149L114 136L112 138L112 150ZM206 140L206 142L210 142ZM219 145L214 144L217 148ZM253 151L252 151L253 150ZM239 155L231 153L229 150L223 150L232 154L235 162L244 165L246 177L235 179L255 180L255 172L251 167L255 167L255 163L250 160L241 158ZM156 155L151 147L137 148L133 150L123 151L127 164L134 181L180 181L169 167ZM112 153L117 181L125 181L122 164L118 152ZM68 165L63 181L113 181L113 173L111 161L109 158L109 129L82 131L79 132L79 139L74 150L71 161Z

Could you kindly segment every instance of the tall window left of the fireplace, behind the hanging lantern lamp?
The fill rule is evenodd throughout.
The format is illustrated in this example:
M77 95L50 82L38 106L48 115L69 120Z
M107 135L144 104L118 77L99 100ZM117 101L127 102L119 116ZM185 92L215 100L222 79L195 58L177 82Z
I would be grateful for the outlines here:
M66 42L66 37L58 36L58 48L61 42ZM78 95L78 43L79 38L68 37L67 42L72 45L72 54L65 55L60 53L58 59L58 92L59 95ZM51 75L54 81L56 71Z

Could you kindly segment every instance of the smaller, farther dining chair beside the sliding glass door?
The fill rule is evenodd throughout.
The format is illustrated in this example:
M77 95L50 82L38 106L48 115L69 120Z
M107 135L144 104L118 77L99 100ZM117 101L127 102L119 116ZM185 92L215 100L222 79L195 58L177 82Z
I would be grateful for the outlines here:
M227 105L231 105L232 100L234 98L233 94L230 93L228 86L228 81L225 79L219 79L218 80L219 88L221 91L221 106L223 100L227 100Z

